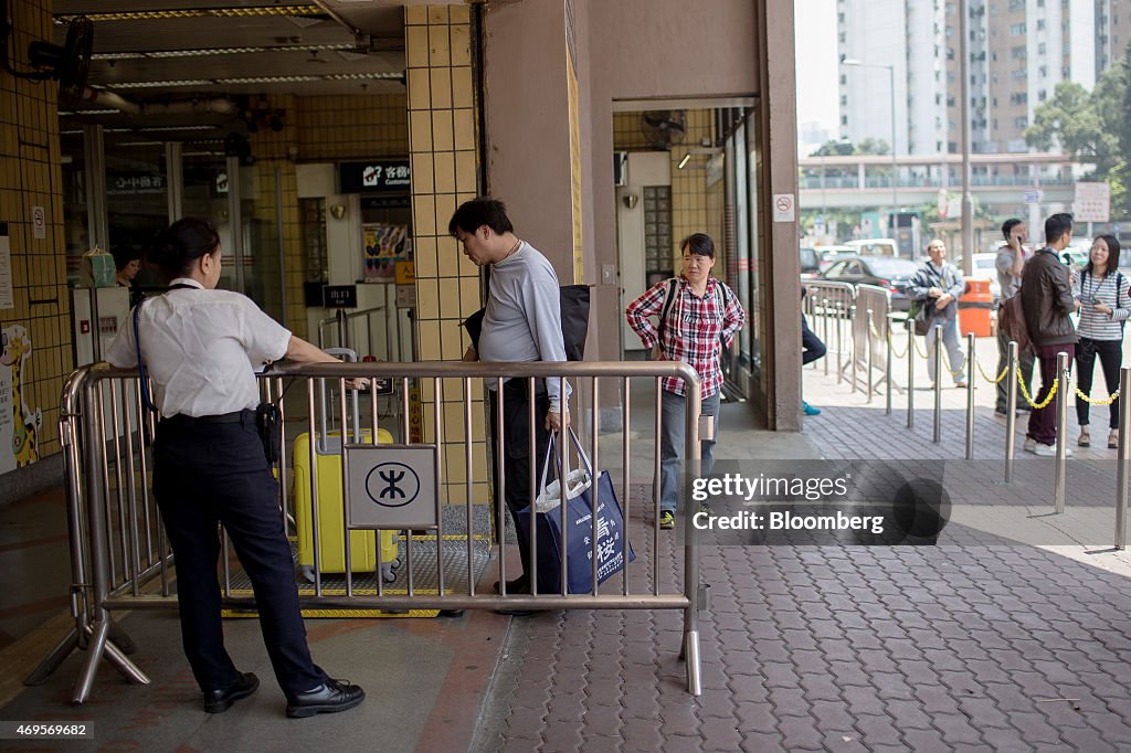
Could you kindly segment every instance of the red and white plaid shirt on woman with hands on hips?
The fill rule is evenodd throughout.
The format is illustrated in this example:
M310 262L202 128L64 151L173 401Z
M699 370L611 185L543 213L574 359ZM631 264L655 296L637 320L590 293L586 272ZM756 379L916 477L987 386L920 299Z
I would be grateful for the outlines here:
M702 396L710 397L723 386L723 371L718 362L719 336L723 337L723 344L731 347L734 334L746 321L746 312L739 304L734 291L714 277L707 278L707 289L701 298L691 291L687 279L677 279L661 350L666 361L684 361L690 364L699 373ZM629 327L649 350L658 341L659 330L648 318L663 313L667 284L668 280L664 280L654 285L624 310ZM665 378L664 389L676 395L685 391L683 380L676 376Z

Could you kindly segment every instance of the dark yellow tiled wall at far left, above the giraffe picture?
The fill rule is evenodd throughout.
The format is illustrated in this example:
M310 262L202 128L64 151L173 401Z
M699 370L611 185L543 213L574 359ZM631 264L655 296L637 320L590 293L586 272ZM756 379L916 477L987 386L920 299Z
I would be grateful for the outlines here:
M19 51L33 41L53 37L51 2L24 0L8 8L14 23L9 55L26 69ZM42 410L36 438L40 458L59 451L59 396L63 378L74 367L55 112L54 81L0 73L0 222L8 223L15 297L15 308L0 309L0 328L21 327L31 340L19 392L32 415L36 408ZM35 237L33 207L43 207L44 237ZM2 445L10 447L10 441L0 436Z

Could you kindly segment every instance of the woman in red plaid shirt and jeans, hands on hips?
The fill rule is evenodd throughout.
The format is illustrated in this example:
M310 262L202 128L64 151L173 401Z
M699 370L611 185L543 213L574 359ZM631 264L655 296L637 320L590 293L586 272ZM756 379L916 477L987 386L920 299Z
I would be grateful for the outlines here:
M718 435L718 397L723 386L719 355L731 347L734 334L742 328L746 312L725 283L710 276L715 267L715 242L706 233L683 239L682 274L654 285L624 310L629 327L656 361L684 361L702 383L700 415L715 416ZM649 317L662 317L671 292L665 321L654 327ZM685 397L683 380L668 376L663 383L659 527L675 527L676 471L683 449ZM714 465L715 440L703 440L700 452L702 476Z

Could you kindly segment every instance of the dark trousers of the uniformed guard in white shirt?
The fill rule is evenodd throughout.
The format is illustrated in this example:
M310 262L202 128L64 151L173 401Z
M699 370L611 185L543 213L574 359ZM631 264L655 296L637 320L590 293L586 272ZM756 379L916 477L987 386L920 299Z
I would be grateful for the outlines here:
M224 649L219 614L216 523L222 522L251 579L275 676L287 698L294 698L320 685L326 674L307 646L277 482L253 412L244 410L234 423L205 421L162 421L154 441L154 495L176 559L184 654L205 692L224 689L239 676Z

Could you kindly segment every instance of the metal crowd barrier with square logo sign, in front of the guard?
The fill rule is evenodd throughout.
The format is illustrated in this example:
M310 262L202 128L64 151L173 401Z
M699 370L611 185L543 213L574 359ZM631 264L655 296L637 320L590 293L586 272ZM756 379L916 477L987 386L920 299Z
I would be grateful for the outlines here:
M374 572L375 588L359 587L354 580L353 568L347 564L344 573L344 588L325 587L322 573L322 557L319 547L325 546L318 530L320 519L319 486L317 479L318 461L316 458L316 442L309 442L310 451L310 513L313 526L313 580L314 594L312 596L301 596L300 603L304 608L329 608L329 609L381 609L381 611L405 611L405 609L680 609L683 612L683 640L681 644L681 658L687 659L688 690L692 694L701 693L701 670L699 651L699 612L705 606L705 588L700 585L699 574L699 539L698 530L692 525L692 516L698 511L698 504L692 509L692 501L689 494L681 494L681 509L683 510L683 557L682 572L679 562L672 563L672 586L665 590L662 581L667 578L661 577L659 571L659 490L655 485L651 500L651 549L650 556L640 557L634 564L628 562L628 531L631 529L631 447L629 441L629 427L631 425L630 409L630 380L633 378L654 380L656 387L656 449L655 470L659 468L658 436L662 430L662 389L661 383L664 378L674 376L682 379L687 387L687 412L685 419L685 451L689 474L699 471L699 438L703 431L713 432L711 422L703 422L700 426L698 406L700 404L701 388L694 370L682 362L577 362L577 363L498 363L480 364L464 362L415 362L415 363L342 363L342 364L313 364L313 365L282 365L266 376L260 378L262 392L270 399L280 398L285 390L292 389L295 383L305 383L307 421L305 430L310 438L317 436L318 425L316 424L316 386L320 382L337 382L338 404L335 409L338 413L338 425L345 438L353 436L353 443L343 441L342 449L342 484L343 495L343 523L342 542L345 554L345 562L352 563L351 538L357 531L374 530L374 539L380 539L380 530L394 529L403 531L405 563L403 574L405 575L405 587L400 589L387 588L382 582L380 568ZM592 406L584 415L575 410L575 425L584 425L589 433L589 458L592 460L593 485L592 485L592 539L586 544L589 546L588 557L593 563L592 591L573 594L569 591L567 578L567 556L561 557L561 591L554 594L537 592L537 526L536 516L530 516L529 540L532 560L535 563L535 572L530 573L534 586L530 595L507 594L507 566L506 560L508 551L515 546L508 544L504 537L499 537L497 564L485 566L484 571L476 574L474 572L473 559L475 555L476 542L473 542L473 484L483 483L489 478L489 468L485 460L475 465L473 453L473 438L481 436L486 432L482 431L482 423L477 423L473 416L473 401L482 399L484 387L494 382L500 388L506 379L523 379L528 381L533 388L536 379L569 379L575 387L575 395L586 389L592 392L589 405ZM351 485L349 466L351 459L372 457L365 455L373 453L378 443L378 415L375 403L369 416L364 412L356 410L356 401L352 403L352 410L347 410L347 393L353 390L347 389L347 379L364 380L370 389L377 387L378 380L391 380L396 388L399 388L399 397L403 403L400 412L402 422L394 427L399 434L400 441L396 444L382 444L381 449L408 450L425 449L431 452L434 459L434 482L435 499L434 504L425 504L432 508L434 520L420 525L405 525L404 522L382 525L380 521L364 521L354 523L351 521ZM598 586L598 528L606 521L598 514L601 508L598 478L601 476L601 460L598 457L598 422L597 422L597 399L598 388L602 381L614 382L623 395L622 404L622 491L621 508L623 530L625 535L620 542L620 555L623 564L620 574L610 577L604 587ZM40 667L27 678L28 684L42 683L58 668L67 656L76 648L85 649L86 657L80 673L80 677L75 689L74 701L85 702L94 683L94 677L102 658L106 658L128 680L138 684L148 683L146 675L127 657L131 648L131 642L116 624L113 622L112 613L118 609L140 609L140 608L176 608L176 598L172 591L172 578L170 565L172 554L164 537L163 528L159 523L159 514L152 490L152 438L156 429L157 418L152 413L141 409L141 401L138 390L137 373L132 370L112 369L106 364L95 364L84 366L74 372L67 380L63 389L60 409L60 442L64 452L68 492L68 523L70 533L70 552L72 566L71 585L71 614L75 618L75 628L43 660ZM418 406L409 405L411 386L414 391L431 391L434 421L429 426L411 427L413 410ZM292 396L294 398L296 396ZM295 400L292 399L292 403ZM279 405L286 401L278 399ZM504 398L500 392L497 409L501 419L503 415ZM461 412L464 431L461 436L446 436L443 414L444 408L458 405ZM292 406L293 407L293 406ZM130 422L129 416L143 416L141 425L137 421ZM534 415L533 403L530 405L529 419L542 421L542 416ZM110 416L107 426L107 418ZM417 413L417 415L420 415ZM449 414L450 415L450 414ZM351 424L351 417L353 423ZM286 416L284 415L284 418ZM366 418L369 419L368 425ZM703 417L707 418L707 417ZM322 416L325 419L325 415ZM362 424L359 426L359 422ZM287 421L284 425L284 448L287 448L286 438ZM293 421L291 423L294 423ZM501 425L500 421L500 425ZM383 427L382 427L383 429ZM421 432L424 442L412 441L415 430ZM369 439L363 439L365 432L371 432ZM431 432L431 436L428 436ZM482 433L481 433L482 432ZM582 432L582 434L586 432ZM536 492L535 481L535 457L534 434L529 436L530 457L530 502L533 509L534 495ZM504 436L500 438L506 441ZM355 453L355 450L357 451ZM440 488L444 478L443 452L448 458L454 453L461 452L466 464L466 473L461 481L465 485L467 508L467 568L466 572L461 568L452 571L446 566L444 557L440 548L444 539L444 516L443 508L458 505L455 500L449 500L444 505L441 501ZM500 453L501 455L501 453ZM485 455L483 457L486 457ZM568 455L561 455L561 466L559 467L560 478L566 477ZM355 460L355 462L357 462ZM494 459L494 470L499 474L500 488L502 482L502 458ZM362 467L364 470L363 466ZM575 466L577 467L577 466ZM374 467L370 473L374 473ZM295 528L295 519L299 510L295 509L294 495L288 495L288 478L286 467L286 453L280 461L276 473L283 483L279 484L279 514L283 517L286 530L290 533ZM354 477L356 478L356 477ZM449 485L449 494L456 482ZM368 488L368 487L366 487ZM372 492L370 492L372 494ZM503 494L500 493L500 497ZM422 497L423 499L423 497ZM428 502L428 500L424 500ZM375 500L371 500L375 502ZM330 501L336 504L337 501ZM508 517L508 511L503 499L493 502L495 521L502 526ZM373 508L372 503L368 504ZM559 505L546 514L562 516L562 551L567 552L566 507ZM305 512L305 510L303 510ZM449 516L450 519L450 516ZM418 522L418 521L417 521ZM423 538L434 536L437 542L435 588L423 588L417 586L420 580L417 569L431 569L431 562L420 565L413 563L413 540L414 535L418 538L418 531L429 531ZM450 538L450 537L449 537ZM458 538L458 537L457 537ZM589 538L589 537L587 537ZM225 608L247 609L253 608L254 599L250 596L240 596L233 588L233 573L230 571L230 557L227 537L223 537L223 548L221 554L222 563L222 603ZM644 544L637 542L638 546ZM607 555L610 549L603 554ZM381 561L381 545L377 544L378 562ZM646 563L650 561L650 573L645 570ZM477 581L485 577L492 569L498 571L499 581L502 585L502 594L481 594L477 590ZM681 577L682 575L682 577ZM399 578L400 575L398 575ZM616 583L615 579L620 579ZM446 582L446 579L448 582ZM461 588L450 586L450 582L460 582ZM682 589L680 588L682 583Z

